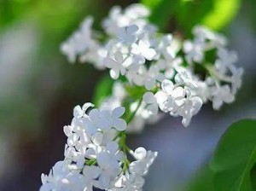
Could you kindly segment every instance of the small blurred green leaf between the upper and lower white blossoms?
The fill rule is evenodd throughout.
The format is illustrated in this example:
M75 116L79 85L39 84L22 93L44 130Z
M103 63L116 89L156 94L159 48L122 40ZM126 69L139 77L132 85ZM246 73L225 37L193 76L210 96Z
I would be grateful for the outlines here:
M105 98L112 94L113 79L109 75L104 76L100 79L96 86L96 90L93 96L93 103L96 107L99 107Z

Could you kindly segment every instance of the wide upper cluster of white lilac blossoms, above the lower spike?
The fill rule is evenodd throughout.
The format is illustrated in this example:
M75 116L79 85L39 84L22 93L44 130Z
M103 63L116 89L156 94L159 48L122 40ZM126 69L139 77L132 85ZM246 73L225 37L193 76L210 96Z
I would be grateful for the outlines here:
M127 83L148 90L143 96L144 119L155 116L159 107L182 116L188 126L203 103L212 101L212 107L219 109L235 100L243 70L235 67L236 53L226 49L224 36L204 26L195 26L193 40L160 35L148 23L148 15L142 4L124 11L114 7L103 20L108 40L102 45L92 38L91 18L87 18L79 32L62 44L63 53L72 61L74 55L89 62L94 58L96 67L109 68L113 79L125 76ZM198 67L202 72L196 71Z

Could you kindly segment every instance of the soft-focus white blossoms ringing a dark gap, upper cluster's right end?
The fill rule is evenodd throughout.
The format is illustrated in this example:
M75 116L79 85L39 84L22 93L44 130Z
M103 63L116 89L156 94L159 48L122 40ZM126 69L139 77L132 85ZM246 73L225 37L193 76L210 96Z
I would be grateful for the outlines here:
M195 90L204 102L212 101L212 107L218 110L224 103L235 100L236 92L241 87L243 69L234 65L236 52L226 48L227 39L224 36L204 26L195 26L193 33L194 40L183 43L185 61L191 68L197 64L206 67L210 75L204 81L197 80L199 85ZM208 61L207 55L212 54L215 59Z

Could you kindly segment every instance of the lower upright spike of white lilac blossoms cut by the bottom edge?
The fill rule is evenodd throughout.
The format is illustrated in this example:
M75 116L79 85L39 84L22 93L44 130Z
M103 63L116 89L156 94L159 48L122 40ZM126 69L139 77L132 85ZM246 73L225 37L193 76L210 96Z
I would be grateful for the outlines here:
M156 152L137 148L134 152L120 142L126 129L124 107L113 110L93 108L90 103L74 107L71 125L64 127L67 136L65 159L57 162L49 175L42 174L41 191L142 190L148 168ZM126 154L134 161L130 161Z

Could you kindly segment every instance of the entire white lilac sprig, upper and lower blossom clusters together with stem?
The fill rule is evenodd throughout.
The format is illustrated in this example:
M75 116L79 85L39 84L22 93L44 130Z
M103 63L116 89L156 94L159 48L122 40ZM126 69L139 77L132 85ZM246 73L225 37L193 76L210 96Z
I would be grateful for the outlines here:
M188 126L203 103L219 109L235 100L243 70L234 65L237 56L226 48L226 38L204 26L195 26L193 40L162 34L148 23L149 14L142 4L114 7L102 22L104 34L92 30L88 17L61 44L70 62L108 68L116 81L99 109L88 112L90 103L74 108L71 125L64 127L65 159L42 175L41 191L142 190L157 153L132 151L125 131L142 130L161 118L160 111Z

